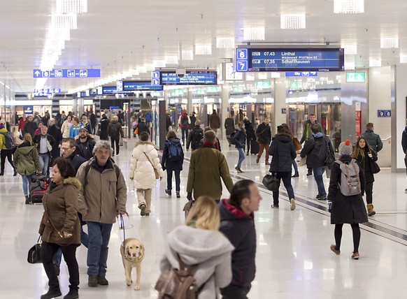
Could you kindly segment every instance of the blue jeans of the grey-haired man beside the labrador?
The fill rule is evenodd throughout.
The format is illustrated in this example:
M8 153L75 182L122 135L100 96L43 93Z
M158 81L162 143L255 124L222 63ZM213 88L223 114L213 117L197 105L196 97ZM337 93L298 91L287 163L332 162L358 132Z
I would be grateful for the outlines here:
M113 224L87 221L89 245L87 247L87 275L106 276L108 245Z

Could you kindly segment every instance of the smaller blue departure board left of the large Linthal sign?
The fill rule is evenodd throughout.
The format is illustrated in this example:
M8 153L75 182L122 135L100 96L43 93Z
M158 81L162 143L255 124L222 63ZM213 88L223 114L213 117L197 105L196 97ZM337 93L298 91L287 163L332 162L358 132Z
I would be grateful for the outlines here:
M183 78L179 78L175 71L152 72L152 85L161 82L161 85L217 85L216 71L187 71Z

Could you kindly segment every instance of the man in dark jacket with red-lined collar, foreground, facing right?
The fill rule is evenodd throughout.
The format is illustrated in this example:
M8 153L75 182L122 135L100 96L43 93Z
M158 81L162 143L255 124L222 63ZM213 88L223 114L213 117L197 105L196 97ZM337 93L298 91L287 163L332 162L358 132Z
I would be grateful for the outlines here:
M252 180L234 184L230 198L220 203L220 231L229 239L231 254L231 284L220 290L223 299L247 299L256 274L256 230L254 212L259 210L260 196Z

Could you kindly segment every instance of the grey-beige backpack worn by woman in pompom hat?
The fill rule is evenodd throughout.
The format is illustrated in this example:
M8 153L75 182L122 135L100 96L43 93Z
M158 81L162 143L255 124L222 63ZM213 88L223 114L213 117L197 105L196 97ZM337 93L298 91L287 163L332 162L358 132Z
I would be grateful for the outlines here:
M359 178L359 166L355 159L352 159L349 163L343 163L342 161L335 161L341 168L341 184L339 189L343 196L352 196L360 194L360 178Z

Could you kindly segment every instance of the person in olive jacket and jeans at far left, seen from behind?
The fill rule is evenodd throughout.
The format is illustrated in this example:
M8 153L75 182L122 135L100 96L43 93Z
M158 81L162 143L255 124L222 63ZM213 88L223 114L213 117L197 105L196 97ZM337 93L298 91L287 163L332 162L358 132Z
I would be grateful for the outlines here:
M25 204L28 205L28 184L35 172L41 173L38 150L29 133L24 135L24 142L17 147L13 156L13 164L17 168L17 173L20 173L22 177L22 190L24 191Z

